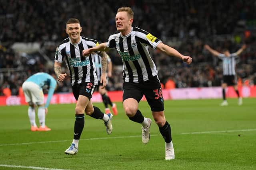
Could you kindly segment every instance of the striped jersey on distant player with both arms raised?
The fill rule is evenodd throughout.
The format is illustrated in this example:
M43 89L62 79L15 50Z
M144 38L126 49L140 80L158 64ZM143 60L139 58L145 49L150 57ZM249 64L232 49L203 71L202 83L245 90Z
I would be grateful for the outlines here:
M224 54L218 55L219 59L223 62L223 75L224 76L231 76L236 75L236 60L235 58L238 57L236 53L230 54L230 56L226 57Z

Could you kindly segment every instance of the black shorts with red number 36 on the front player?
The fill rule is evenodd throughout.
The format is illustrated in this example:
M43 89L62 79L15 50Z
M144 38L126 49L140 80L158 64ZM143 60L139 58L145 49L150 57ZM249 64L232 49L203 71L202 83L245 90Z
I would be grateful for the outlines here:
M140 102L145 95L151 111L164 111L164 98L157 76L142 83L124 82L123 89L123 102L128 98L134 98Z

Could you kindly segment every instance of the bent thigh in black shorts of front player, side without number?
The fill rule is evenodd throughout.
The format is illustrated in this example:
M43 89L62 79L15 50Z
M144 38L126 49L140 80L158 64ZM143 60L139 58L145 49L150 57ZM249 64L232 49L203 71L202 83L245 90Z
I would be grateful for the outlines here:
M143 92L141 91L140 85L137 83L124 82L123 84L123 102L126 99L133 98L140 102L143 97Z

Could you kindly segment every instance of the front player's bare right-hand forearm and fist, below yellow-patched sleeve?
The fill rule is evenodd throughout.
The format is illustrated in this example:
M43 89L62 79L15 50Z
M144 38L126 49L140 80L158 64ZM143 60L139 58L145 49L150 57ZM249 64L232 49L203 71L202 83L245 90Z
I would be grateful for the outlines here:
M192 58L189 56L184 56L182 54L180 54L176 49L164 44L164 43L159 43L156 46L157 49L159 49L160 51L166 53L167 55L171 55L174 57L178 57L180 59L182 59L184 62L190 64L192 62Z

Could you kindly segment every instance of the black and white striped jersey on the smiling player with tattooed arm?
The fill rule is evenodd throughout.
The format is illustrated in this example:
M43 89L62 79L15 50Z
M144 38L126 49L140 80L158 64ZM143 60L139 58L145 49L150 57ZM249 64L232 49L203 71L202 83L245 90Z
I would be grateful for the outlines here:
M73 44L70 38L64 39L56 49L55 61L62 63L63 60L70 73L70 82L74 86L82 82L94 82L98 84L96 68L91 56L82 56L84 49L92 48L98 45L94 39L80 37L80 41ZM100 52L97 52L100 53Z

